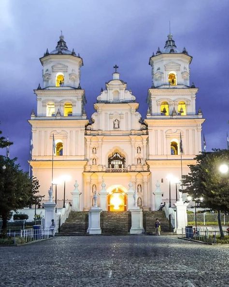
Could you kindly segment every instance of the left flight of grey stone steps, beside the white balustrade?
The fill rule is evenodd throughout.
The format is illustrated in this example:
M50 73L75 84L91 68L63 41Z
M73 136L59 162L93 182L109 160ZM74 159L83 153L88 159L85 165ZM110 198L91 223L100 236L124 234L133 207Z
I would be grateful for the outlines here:
M88 235L88 211L71 211L69 218L60 227L57 236Z

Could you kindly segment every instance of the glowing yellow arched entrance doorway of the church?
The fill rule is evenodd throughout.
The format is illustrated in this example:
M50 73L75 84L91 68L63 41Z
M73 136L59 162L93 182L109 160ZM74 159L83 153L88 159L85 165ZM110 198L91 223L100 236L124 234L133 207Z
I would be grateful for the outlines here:
M116 188L108 195L108 211L126 211L127 195L124 191Z

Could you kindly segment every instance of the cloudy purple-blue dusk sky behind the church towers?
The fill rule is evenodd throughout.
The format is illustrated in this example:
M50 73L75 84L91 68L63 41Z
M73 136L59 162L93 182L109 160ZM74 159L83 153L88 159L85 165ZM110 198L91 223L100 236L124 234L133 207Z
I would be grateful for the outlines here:
M1 0L0 8L0 130L14 142L10 157L28 171L27 120L36 111L33 89L42 85L39 58L55 49L63 31L69 49L83 58L81 87L86 112L113 66L127 82L145 117L151 86L152 52L163 48L171 32L176 46L193 56L191 82L199 87L197 109L206 119L207 150L227 147L229 130L229 1L228 0ZM5 149L0 151L6 153Z

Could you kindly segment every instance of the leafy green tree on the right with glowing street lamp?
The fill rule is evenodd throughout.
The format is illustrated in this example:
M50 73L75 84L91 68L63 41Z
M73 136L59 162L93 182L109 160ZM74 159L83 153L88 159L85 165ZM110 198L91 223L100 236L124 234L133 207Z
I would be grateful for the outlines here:
M203 197L201 207L217 210L220 238L224 238L220 213L229 212L229 175L219 171L222 163L229 163L229 150L215 149L196 156L196 164L190 164L190 173L183 175L182 185L193 198Z

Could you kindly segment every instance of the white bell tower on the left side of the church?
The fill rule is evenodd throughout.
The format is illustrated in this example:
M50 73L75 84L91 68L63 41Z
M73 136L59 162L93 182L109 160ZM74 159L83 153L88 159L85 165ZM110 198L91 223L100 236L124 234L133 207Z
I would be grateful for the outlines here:
M47 49L40 61L43 85L34 90L37 111L31 113L29 120L33 141L30 163L44 194L52 179L63 174L74 178L74 168L83 172L88 120L85 90L80 86L83 59L74 49L68 49L62 32L55 50Z

